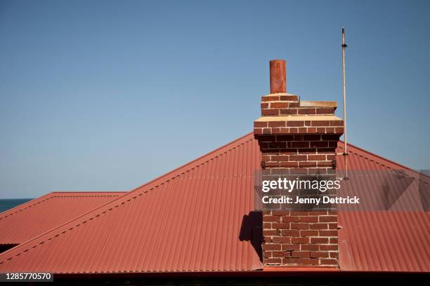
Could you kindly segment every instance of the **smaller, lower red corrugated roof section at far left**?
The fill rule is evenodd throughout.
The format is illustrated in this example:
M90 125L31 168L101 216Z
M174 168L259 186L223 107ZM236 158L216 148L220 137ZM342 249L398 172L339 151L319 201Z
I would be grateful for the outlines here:
M0 245L24 243L124 192L53 192L0 213Z

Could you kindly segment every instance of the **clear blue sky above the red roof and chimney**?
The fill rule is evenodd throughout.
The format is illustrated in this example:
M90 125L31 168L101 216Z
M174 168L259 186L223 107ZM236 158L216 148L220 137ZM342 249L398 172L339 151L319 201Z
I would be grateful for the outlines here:
M252 131L269 92L429 168L429 1L0 1L0 198L129 191ZM341 108L337 111L341 116Z

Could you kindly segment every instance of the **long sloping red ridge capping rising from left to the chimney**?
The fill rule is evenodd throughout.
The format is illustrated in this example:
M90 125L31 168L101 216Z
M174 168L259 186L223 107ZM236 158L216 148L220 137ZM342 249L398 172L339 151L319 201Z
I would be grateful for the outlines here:
M178 167L174 170L171 170L170 172L167 172L166 174L161 175L160 177L157 177L156 179L152 179L150 182L143 184L141 186L138 186L136 189L133 189L132 191L125 193L123 196L120 196L119 198L117 198L115 200L111 200L110 202L107 202L104 205L100 205L99 207L96 207L93 210L90 210L89 212L86 212L85 214L80 215L79 217L75 217L74 219L71 219L68 222L65 222L63 224L60 224L59 226L54 227L53 229L45 231L44 233L41 233L39 236L31 238L30 240L27 240L24 243L20 243L20 245L17 245L16 247L13 247L10 250L7 250L6 252L3 252L0 254L0 259L2 259L2 260L0 260L0 264L3 264L5 261L13 259L13 257L18 257L23 252L27 252L28 250L35 248L38 245L43 245L46 241L52 240L53 238L56 238L60 234L67 233L68 231L75 229L76 227L80 226L81 224L85 224L87 222L90 222L94 218L99 217L101 214L105 214L105 212L113 210L115 207L118 207L119 205L124 205L124 203L129 202L129 201L137 198L138 196L142 196L143 193L147 193L148 191L155 189L158 186L165 184L166 182L169 182L169 180L171 180L171 179L174 179L176 177L180 177L185 172L189 172L190 170L194 170L195 168L199 167L200 165L204 165L205 163L213 160L214 158L217 158L218 156L222 156L223 154L226 154L227 152L229 152L233 149L236 149L237 147L240 147L241 145L254 139L254 136L251 137L250 135L253 135L253 132L249 132L247 135L244 135L242 137L239 137L238 139L233 140L232 142L224 144L222 147L219 147L213 151L210 151L209 153L204 154L203 156L200 156L199 158L196 158L195 160L190 161L189 163L181 165L180 167ZM250 137L250 138L248 138L248 137ZM230 145L233 145L233 144L234 144L233 147L231 147L227 150L223 150L223 149L226 149L227 147L229 147ZM211 156L211 155L213 155L213 156ZM211 158L208 158L207 160L202 161L202 159L207 158L208 156L211 156ZM202 162L200 162L200 161L202 161ZM195 165L193 165L193 164L195 164ZM185 168L188 165L193 165L193 166L191 168L183 171L183 172L180 172L178 175L176 175L176 172L180 171L181 169ZM171 175L172 177L169 177L168 179L164 179L164 177L167 177L169 175ZM159 181L161 179L164 179L163 182L157 183L157 181ZM155 183L157 183L157 184L155 184ZM151 184L155 184L155 185L150 186ZM141 193L138 193L138 194L136 194L136 196L133 196L134 193L145 188L145 186L150 186L150 189L146 189L144 191L141 191ZM129 197L131 197L131 198L129 198ZM112 205L112 206L110 207L110 205ZM109 208L107 208L107 207L109 207ZM89 216L89 217L84 219L86 216ZM72 224L72 222L76 222L76 221L79 221L79 222L77 222L77 224L69 227L69 225ZM67 227L67 229L64 229L65 227ZM38 240L39 238L43 238L44 236L47 236L49 233L53 233L53 232L55 232L56 234L53 234L52 236L41 239L41 241L36 242L36 244L27 247L27 245L32 243L34 240ZM21 250L22 248L25 248L25 249ZM15 252L17 252L17 253L15 253ZM8 254L13 254L13 255L11 257L5 258L5 256Z

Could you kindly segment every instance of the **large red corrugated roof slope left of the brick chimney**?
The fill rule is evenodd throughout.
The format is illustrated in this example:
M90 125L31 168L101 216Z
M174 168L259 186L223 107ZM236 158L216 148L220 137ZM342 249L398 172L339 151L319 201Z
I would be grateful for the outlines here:
M262 268L240 240L258 143L246 135L0 255L0 271L110 273Z

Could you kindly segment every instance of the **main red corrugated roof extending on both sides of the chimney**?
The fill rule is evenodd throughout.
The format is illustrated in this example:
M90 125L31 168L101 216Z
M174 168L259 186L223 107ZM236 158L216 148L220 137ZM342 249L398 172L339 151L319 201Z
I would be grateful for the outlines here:
M356 147L348 153L351 169L365 164L412 174ZM0 271L261 269L252 238L241 233L252 217L260 156L254 135L245 135L0 254ZM339 225L341 271L430 271L429 212L339 212Z

